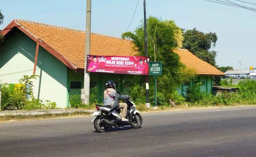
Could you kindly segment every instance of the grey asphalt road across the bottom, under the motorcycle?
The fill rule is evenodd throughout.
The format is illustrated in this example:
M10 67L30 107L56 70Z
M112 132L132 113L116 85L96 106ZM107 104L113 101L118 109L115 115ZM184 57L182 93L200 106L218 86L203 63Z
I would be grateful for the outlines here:
M0 123L0 157L255 157L256 107L143 113L96 133L93 117Z

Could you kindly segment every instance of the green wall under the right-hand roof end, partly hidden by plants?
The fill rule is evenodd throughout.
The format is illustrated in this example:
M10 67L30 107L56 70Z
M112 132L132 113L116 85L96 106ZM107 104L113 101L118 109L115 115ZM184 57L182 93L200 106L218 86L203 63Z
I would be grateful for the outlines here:
M193 81L190 82L190 85L193 85L195 82L204 82L204 85L201 85L201 91L207 92L207 94L210 94L212 91L212 76L198 76ZM177 89L179 94L186 95L186 89L188 86L186 85L180 85L180 87ZM182 90L183 89L183 90Z

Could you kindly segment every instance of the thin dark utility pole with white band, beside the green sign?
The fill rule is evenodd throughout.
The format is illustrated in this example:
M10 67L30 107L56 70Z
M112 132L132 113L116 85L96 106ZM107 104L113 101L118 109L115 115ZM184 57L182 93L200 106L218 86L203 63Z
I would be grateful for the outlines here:
M145 44L145 56L147 57L147 16L146 16L146 0L144 0L144 44ZM148 85L148 75L146 76L146 106L149 108L149 85Z

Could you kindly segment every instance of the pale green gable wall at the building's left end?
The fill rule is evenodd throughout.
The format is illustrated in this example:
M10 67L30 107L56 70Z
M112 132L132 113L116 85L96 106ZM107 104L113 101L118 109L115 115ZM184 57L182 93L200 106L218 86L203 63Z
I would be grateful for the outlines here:
M36 43L16 30L0 47L0 80L2 83L19 83L23 75L32 75ZM44 48L39 47L34 96L67 105L67 66Z

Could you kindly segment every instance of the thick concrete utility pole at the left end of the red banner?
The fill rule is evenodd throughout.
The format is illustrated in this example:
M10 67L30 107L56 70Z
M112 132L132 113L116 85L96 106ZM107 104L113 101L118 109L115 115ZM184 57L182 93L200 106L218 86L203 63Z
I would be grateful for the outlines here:
M84 54L84 83L81 89L81 101L89 105L90 98L90 72L86 72L87 55L91 52L91 0L86 4L86 32L85 32L85 54Z

